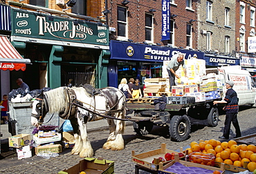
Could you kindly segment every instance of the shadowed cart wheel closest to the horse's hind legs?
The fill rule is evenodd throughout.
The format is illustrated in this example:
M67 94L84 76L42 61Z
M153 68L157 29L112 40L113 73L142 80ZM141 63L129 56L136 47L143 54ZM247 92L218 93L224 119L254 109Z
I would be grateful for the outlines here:
M153 125L150 121L134 122L134 131L138 135L147 135L152 131Z

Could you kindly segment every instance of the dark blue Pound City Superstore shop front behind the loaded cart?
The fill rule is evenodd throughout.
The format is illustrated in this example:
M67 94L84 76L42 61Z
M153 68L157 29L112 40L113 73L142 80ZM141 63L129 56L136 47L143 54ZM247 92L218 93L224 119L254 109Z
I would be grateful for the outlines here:
M162 77L163 61L170 61L172 56L183 53L185 59L203 58L203 52L181 50L163 46L149 46L127 41L109 43L111 57L108 66L109 86L117 87L122 78L140 79Z

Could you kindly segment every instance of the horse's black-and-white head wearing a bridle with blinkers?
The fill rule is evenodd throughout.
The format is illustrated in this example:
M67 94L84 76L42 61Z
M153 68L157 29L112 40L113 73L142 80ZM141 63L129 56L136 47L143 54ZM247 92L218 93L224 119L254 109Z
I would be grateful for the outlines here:
M46 108L46 100L44 99L44 93L42 92L32 104L31 124L33 126L42 124L46 113L48 113L48 109Z

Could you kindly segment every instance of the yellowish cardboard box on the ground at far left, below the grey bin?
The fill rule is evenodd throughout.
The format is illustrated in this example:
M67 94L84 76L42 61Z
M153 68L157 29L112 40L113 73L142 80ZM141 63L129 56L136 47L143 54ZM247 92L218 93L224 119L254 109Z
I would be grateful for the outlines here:
M9 146L20 148L22 146L26 146L30 144L31 137L30 134L19 134L12 137L8 137L9 139Z

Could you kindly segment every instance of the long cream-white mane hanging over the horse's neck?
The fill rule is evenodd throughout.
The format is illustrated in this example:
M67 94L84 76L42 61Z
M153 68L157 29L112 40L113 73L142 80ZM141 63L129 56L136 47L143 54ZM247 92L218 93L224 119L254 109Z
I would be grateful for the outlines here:
M44 93L49 107L49 113L60 112L65 108L66 96L64 87L55 88Z

